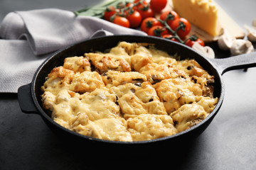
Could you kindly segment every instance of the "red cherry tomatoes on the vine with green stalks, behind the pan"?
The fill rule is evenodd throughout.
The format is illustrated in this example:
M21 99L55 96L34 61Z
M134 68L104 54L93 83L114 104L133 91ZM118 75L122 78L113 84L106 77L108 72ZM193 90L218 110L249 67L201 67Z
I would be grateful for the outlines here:
M160 13L165 6L165 0L107 0L102 5L75 11L75 14L104 18L127 28L137 29L140 26L148 35L174 40L191 47L195 42L204 46L203 40L196 35L188 37L191 24L186 18L180 18L175 11ZM159 19L154 17L155 13L161 14Z

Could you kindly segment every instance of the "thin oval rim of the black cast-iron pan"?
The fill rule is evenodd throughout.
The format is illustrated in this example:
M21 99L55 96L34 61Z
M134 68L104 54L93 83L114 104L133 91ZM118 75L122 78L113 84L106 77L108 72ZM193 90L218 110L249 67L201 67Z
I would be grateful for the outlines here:
M43 110L43 108L41 108L41 104L39 103L37 97L36 97L36 80L38 77L38 73L41 71L41 69L43 69L43 66L49 62L49 60L51 60L53 57L55 57L56 55L58 55L60 52L63 52L65 50L68 50L71 47L80 45L82 43L85 43L87 41L92 41L92 40L97 40L97 39L102 39L105 40L107 38L144 38L145 40L160 40L160 41L166 41L166 43L175 43L177 45L183 46L185 48L187 48L188 50L191 50L192 52L196 53L198 56L203 57L201 54L199 54L198 52L196 52L195 50L193 50L191 47L188 47L186 45L183 45L181 43L178 42L174 42L171 40L164 40L163 38L158 38L158 37L153 37L153 36L142 36L142 35L110 35L110 36L104 36L104 37L98 37L98 38L91 38L89 40L84 40L82 42L78 42L75 43L73 45L69 45L67 47L64 47L61 50L58 50L57 52L54 52L53 55L51 55L50 57L48 57L48 59L46 59L40 67L38 67L38 69L36 70L32 82L31 82L31 94L32 94L32 98L33 98L33 102L36 105L36 108L38 109L38 112L40 113L41 116L43 116L43 118L46 118L47 121L49 121L50 123L52 123L53 125L57 126L57 128L64 130L66 132L71 133L72 135L75 135L77 137L80 138L84 138L85 140L94 140L95 142L104 142L104 143L108 143L108 144L119 144L119 145L141 145L141 144L146 144L146 143L154 143L154 142L161 142L161 141L165 141L165 140L171 140L177 137L181 137L182 135L188 134L189 132L196 130L198 127L200 127L201 125L203 125L204 123L212 120L215 115L218 113L220 106L223 103L223 96L224 96L224 87L223 87L223 80L222 80L222 76L220 75L220 72L218 72L218 70L215 68L214 64L212 62L210 62L210 60L208 60L206 57L203 57L203 60L206 60L206 62L208 62L210 65L212 65L213 69L215 69L215 72L218 73L218 77L220 79L220 83L221 83L221 91L220 91L220 97L218 98L218 103L216 104L215 108L213 109L213 111L204 119L202 120L200 123L194 125L193 127L189 128L188 130L184 130L182 132L178 132L175 135L170 135L167 137L161 137L158 139L154 139L154 140L143 140L143 141L134 141L134 142L122 142L122 141L112 141L112 140L101 140L95 137L89 137L89 136L85 136L85 135L81 135L77 132L73 132L72 130L68 130L66 128L64 128L63 126L59 125L58 123L55 123L55 121L53 119L50 118L50 116Z

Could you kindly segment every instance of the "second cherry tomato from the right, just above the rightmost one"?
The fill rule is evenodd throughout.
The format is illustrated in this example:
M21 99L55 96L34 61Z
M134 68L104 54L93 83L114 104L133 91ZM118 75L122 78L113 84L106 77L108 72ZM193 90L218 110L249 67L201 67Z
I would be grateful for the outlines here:
M177 31L177 34L181 39L184 39L191 30L191 24L185 18L178 18L171 22L170 27L172 30L176 30L180 25L183 25L184 27L180 28Z

